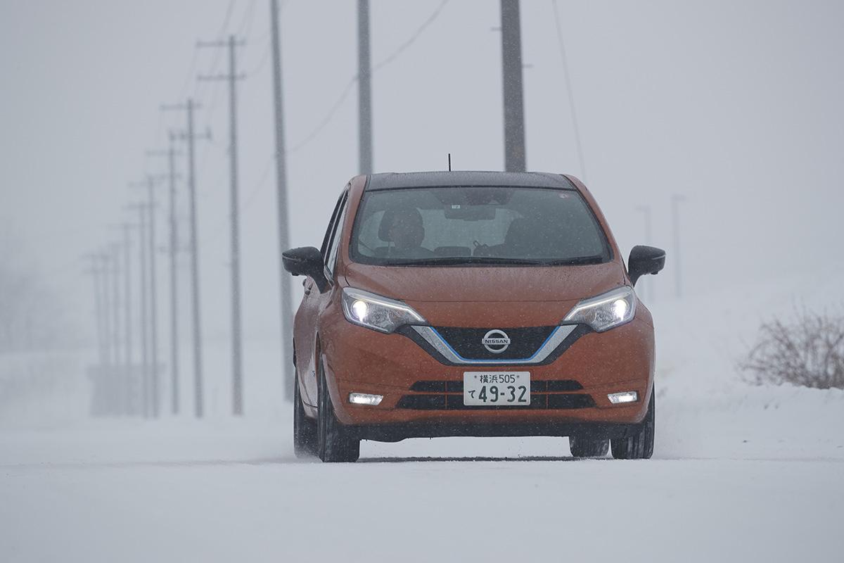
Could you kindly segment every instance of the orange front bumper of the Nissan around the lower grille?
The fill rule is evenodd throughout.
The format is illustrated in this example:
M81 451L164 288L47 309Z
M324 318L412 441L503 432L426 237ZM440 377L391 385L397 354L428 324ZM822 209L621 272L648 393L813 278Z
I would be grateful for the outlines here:
M647 412L653 384L653 328L642 318L606 333L586 333L547 365L443 365L401 334L381 334L342 317L323 327L321 341L335 413L362 438L425 436L629 436ZM532 382L573 380L593 406L565 409L408 409L422 395L416 382L463 382L465 371L530 371ZM636 391L636 403L615 405L607 394ZM349 403L350 392L383 395L377 406ZM455 395L457 398L457 395ZM405 401L404 404L407 402ZM558 401L559 403L559 401ZM351 428L349 430L352 430Z

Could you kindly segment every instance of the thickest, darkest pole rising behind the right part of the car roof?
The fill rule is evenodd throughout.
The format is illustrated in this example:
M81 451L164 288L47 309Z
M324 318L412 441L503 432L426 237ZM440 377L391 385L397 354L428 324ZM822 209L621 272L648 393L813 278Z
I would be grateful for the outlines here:
M501 60L504 83L504 170L523 172L527 168L519 0L501 0Z

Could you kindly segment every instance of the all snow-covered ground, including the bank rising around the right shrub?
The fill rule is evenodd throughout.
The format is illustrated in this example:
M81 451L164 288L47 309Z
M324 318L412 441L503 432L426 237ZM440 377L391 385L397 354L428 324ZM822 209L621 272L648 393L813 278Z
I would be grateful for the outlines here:
M824 279L657 300L648 461L575 461L555 438L301 461L288 410L255 406L268 392L246 420L0 417L0 560L839 561L844 391L735 368L761 320L823 306Z

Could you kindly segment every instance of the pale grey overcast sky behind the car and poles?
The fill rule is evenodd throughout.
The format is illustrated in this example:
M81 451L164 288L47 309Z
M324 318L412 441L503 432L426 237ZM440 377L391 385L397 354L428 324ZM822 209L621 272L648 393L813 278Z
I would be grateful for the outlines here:
M503 166L499 3L441 5L371 0L374 63L441 7L374 76L376 171L442 169L449 152L456 169ZM289 147L308 138L356 73L355 7L284 3ZM522 0L528 169L587 176L625 253L644 241L637 206L651 206L651 242L669 256L654 280L657 300L674 291L674 193L687 198L680 214L690 295L772 276L808 280L840 263L844 3L560 0L559 8L586 171L549 0ZM93 333L79 257L116 239L110 225L129 218L124 206L141 195L127 182L164 170L144 151L164 148L183 116L162 114L160 104L194 95L203 104L197 127L214 136L197 145L205 327L226 345L227 91L195 79L224 71L225 56L194 44L235 33L246 39L244 322L247 338L278 338L268 30L267 0L0 3L0 235L62 290L79 328ZM333 200L357 173L356 104L353 89L327 126L289 154L294 246L319 245Z

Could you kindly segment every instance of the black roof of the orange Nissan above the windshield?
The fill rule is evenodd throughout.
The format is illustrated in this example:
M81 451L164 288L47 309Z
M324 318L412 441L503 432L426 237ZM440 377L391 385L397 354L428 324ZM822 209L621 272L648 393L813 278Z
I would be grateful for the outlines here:
M576 187L561 174L549 172L431 171L383 172L367 177L365 190L392 190L402 187Z

